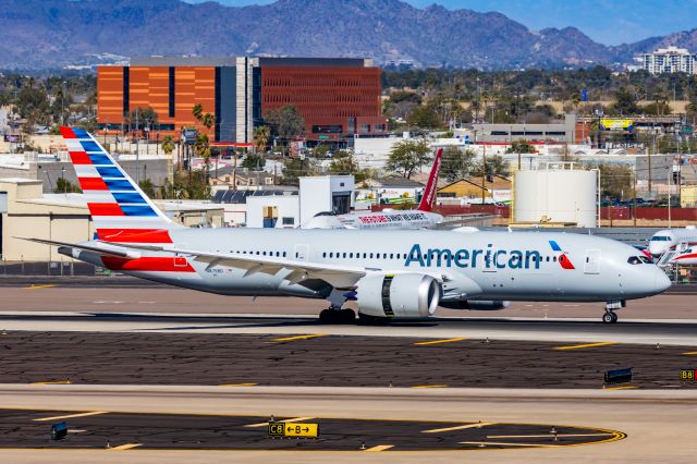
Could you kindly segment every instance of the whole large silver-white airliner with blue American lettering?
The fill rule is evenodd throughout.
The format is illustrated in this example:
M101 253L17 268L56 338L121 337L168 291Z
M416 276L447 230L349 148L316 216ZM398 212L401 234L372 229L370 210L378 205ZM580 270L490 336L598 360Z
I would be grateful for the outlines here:
M143 279L225 295L325 298L323 322L432 316L440 305L606 302L603 321L671 282L636 248L592 235L428 230L189 229L171 222L80 129L61 127L95 240L59 253Z

